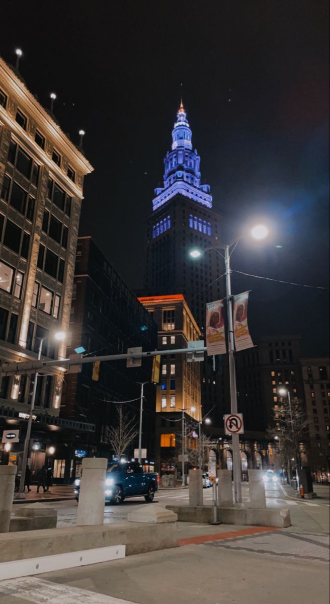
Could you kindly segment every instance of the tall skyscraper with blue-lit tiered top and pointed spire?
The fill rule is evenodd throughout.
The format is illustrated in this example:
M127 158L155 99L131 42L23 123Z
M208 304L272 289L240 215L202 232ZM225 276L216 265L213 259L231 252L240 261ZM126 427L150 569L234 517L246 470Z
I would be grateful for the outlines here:
M214 252L207 252L199 262L193 262L188 252L193 246L216 245L221 217L212 210L210 186L201 184L200 156L192 147L191 127L182 102L164 168L163 187L154 190L153 212L146 221L144 292L183 294L203 329L205 304L223 297L217 281L223 266ZM214 405L218 388L223 388L223 384L214 379L210 370L209 376L202 379L204 411Z

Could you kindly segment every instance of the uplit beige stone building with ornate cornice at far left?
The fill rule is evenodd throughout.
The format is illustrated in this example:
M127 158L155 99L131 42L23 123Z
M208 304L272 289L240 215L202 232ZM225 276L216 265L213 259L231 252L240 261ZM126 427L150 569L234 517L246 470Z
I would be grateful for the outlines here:
M56 348L52 333L69 328L83 180L90 172L82 150L0 59L2 362L35 359L40 338L45 358L65 358L65 342ZM37 415L59 415L62 383L59 370L39 377ZM2 377L0 388L0 421L22 428L20 451L31 377Z

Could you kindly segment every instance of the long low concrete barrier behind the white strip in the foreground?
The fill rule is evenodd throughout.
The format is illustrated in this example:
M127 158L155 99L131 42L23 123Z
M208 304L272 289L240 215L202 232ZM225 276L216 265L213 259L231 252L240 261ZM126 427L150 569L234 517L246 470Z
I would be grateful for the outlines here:
M127 556L177 547L177 524L118 522L3 533L0 535L0 563L109 545L126 545Z

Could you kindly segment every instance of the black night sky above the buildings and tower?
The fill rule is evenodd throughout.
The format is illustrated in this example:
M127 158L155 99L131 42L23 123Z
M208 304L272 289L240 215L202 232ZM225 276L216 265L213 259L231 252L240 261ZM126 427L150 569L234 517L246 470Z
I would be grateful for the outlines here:
M224 239L262 217L232 266L328 287L328 0L67 0L1 7L0 54L84 150L81 234L132 288L143 285L144 220L183 100ZM4 25L7 24L7 27ZM282 248L275 248L282 245ZM303 337L328 353L328 292L233 277L251 289L252 335ZM171 293L171 292L169 292Z

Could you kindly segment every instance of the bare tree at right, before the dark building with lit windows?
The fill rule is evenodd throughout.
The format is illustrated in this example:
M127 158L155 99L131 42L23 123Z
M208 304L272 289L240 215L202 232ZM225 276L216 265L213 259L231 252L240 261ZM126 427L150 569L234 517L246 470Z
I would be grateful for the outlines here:
M276 442L282 465L290 468L294 457L300 466L300 443L308 440L308 419L305 405L299 399L287 399L273 407L273 426L267 429L267 436Z

